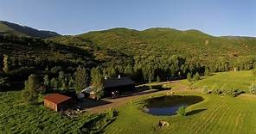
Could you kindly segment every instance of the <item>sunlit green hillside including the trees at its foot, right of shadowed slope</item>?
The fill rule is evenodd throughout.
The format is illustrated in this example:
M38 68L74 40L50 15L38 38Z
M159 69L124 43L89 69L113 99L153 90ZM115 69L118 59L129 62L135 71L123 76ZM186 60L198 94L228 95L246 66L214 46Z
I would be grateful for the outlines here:
M132 75L149 82L157 76L164 81L186 77L188 72L203 75L206 69L220 72L234 68L251 70L256 66L256 38L216 37L198 30L156 27L138 31L119 27L49 40L67 46L121 52L134 60L126 62L135 72ZM122 73L127 66L114 64L114 67Z

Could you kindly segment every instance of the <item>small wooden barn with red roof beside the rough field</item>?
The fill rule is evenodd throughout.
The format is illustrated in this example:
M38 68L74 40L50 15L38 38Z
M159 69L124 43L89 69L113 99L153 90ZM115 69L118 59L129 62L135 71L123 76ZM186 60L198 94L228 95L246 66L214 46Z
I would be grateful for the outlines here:
M62 94L48 94L43 100L45 107L53 109L56 112L67 110L71 102L71 97Z

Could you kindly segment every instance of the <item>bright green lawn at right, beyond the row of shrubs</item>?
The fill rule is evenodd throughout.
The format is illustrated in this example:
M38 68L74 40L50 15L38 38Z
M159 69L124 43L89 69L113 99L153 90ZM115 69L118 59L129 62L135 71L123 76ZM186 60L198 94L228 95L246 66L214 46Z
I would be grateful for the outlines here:
M255 82L256 76L253 76L251 70L246 71L228 71L221 73L214 73L213 76L208 76L198 82L195 82L195 87L202 88L208 86L212 88L226 86L228 88L240 89L248 93L249 86Z

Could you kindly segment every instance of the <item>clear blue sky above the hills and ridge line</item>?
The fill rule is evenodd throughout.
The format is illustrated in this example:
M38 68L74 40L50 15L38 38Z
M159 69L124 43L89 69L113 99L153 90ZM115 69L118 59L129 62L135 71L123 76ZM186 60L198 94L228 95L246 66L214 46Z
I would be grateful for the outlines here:
M0 0L0 20L59 34L112 27L256 37L255 0Z

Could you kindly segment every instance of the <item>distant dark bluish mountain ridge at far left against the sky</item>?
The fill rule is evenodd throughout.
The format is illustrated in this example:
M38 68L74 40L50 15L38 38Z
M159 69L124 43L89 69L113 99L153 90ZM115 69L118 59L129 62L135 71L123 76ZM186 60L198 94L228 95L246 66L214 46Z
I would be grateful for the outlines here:
M0 34L16 34L19 36L38 38L49 38L60 35L52 31L37 30L32 27L21 26L8 21L0 21Z

